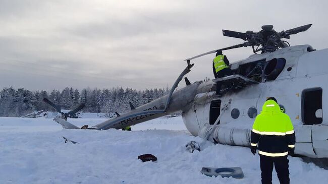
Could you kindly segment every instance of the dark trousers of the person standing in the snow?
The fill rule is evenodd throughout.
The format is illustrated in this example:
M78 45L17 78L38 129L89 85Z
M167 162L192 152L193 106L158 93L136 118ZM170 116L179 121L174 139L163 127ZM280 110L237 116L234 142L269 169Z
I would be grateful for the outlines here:
M260 155L261 177L262 184L272 183L272 170L275 169L281 184L289 184L289 170L288 170L287 156L269 157Z

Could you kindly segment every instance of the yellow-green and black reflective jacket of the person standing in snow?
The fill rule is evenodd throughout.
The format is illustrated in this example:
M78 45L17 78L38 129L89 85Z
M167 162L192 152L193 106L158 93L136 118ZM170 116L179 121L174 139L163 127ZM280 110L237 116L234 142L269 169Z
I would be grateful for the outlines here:
M269 157L286 156L295 147L292 121L274 100L267 100L255 118L251 146L257 146L257 143L258 153Z

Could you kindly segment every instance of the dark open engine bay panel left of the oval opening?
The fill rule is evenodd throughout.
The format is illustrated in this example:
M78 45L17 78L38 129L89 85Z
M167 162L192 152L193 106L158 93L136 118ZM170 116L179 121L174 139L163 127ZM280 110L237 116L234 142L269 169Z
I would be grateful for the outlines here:
M261 82L262 73L266 63L267 62L265 62L265 60L257 60L256 62L240 65L238 74L248 77L254 81Z

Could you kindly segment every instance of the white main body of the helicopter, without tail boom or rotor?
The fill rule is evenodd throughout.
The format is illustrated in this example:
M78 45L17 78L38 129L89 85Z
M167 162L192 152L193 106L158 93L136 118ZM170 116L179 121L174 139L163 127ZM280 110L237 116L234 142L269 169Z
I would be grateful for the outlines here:
M314 51L309 45L251 55L232 64L231 69L245 72L240 69L247 69L247 65L261 66L257 63L263 63L262 72L258 70L258 75L256 72L249 75L259 83L227 90L222 97L213 91L196 94L190 109L182 113L184 123L192 135L204 137L210 124L221 113L223 105L227 104L228 110L223 112L220 124L215 126L208 140L250 146L250 130L255 116L260 113L268 97L275 97L293 122L295 153L308 157L328 157L328 121L323 115L328 113L327 103L324 103L328 101L325 92L328 90L327 57L328 49ZM275 71L277 68L279 70ZM206 81L199 87L214 85L216 83Z

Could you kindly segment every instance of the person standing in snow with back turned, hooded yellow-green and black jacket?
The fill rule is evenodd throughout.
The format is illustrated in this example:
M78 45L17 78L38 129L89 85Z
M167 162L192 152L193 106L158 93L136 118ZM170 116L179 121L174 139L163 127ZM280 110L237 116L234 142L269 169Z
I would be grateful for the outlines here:
M274 97L265 101L261 113L255 118L251 132L251 152L254 155L257 143L262 183L272 183L274 164L280 183L289 183L287 156L294 154L295 133L290 117L282 112Z

